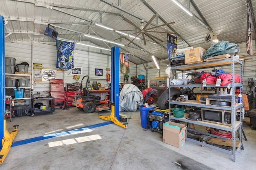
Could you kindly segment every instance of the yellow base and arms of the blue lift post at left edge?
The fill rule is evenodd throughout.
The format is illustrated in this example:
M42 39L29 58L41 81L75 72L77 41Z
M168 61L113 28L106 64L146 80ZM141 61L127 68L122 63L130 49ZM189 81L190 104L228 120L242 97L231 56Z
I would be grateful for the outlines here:
M18 126L19 126L19 125L14 125L15 127L14 130L12 131L12 133L9 133L6 130L6 119L7 119L7 114L4 114L4 137L2 138L2 149L0 150L0 164L4 162L4 159L6 158L9 150L11 149L14 138L18 133Z

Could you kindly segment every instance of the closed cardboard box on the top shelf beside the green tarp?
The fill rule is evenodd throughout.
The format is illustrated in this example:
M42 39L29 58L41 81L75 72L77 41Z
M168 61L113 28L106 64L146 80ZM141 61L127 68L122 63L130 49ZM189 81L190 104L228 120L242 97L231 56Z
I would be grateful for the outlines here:
M202 59L205 49L202 47L197 47L194 49L189 49L185 51L185 64L194 64L194 63L202 63L204 60Z

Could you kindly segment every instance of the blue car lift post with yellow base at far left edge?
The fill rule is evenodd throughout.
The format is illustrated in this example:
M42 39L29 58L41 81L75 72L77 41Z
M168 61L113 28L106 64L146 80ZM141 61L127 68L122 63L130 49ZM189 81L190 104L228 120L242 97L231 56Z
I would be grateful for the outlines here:
M0 16L0 164L4 162L16 134L18 133L18 125L14 125L15 129L10 134L6 130L7 114L5 113L5 56L4 56L4 17ZM12 113L11 113L12 114Z

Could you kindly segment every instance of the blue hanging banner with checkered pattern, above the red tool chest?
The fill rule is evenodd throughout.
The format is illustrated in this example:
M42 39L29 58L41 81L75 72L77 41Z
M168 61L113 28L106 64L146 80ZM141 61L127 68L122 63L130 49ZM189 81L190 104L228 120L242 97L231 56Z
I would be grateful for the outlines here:
M75 43L60 41L56 39L56 47L57 47L56 67L60 69L74 68Z

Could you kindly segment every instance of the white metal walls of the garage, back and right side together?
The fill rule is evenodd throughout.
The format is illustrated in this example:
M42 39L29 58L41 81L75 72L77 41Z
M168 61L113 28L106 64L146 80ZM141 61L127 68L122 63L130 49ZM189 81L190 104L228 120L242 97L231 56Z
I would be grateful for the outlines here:
M246 53L245 43L238 44L240 47L240 58L244 59L243 64L243 79L244 79L244 93L249 91L248 87L248 78L253 78L256 80L256 58L255 56L248 56ZM5 55L6 57L16 58L16 64L26 61L29 63L28 72L32 72L32 63L43 64L43 68L52 68L56 69L56 44L55 42L45 42L45 43L5 43ZM253 47L255 48L255 42L253 41ZM255 51L255 50L254 50ZM122 52L122 51L121 51ZM75 54L74 54L74 65L82 67L82 76L90 75L91 83L97 81L102 83L102 86L108 86L106 81L106 67L111 67L111 54L108 51L100 51L98 49L88 48L83 45L75 45ZM154 66L154 62L144 63L143 64L134 64L130 63L130 77L135 75L145 75L145 78L148 80L150 78L158 76L167 76L165 70L167 64L160 62L160 70L155 68L145 67ZM103 76L95 76L95 68L103 69ZM218 66L216 66L218 68ZM119 68L120 69L120 68ZM226 72L231 72L230 66L222 68ZM89 71L88 71L89 70ZM204 70L210 71L210 70ZM236 74L239 73L239 68L236 67ZM110 73L110 72L109 72ZM70 75L70 71L57 71L58 79L64 79L64 83L74 83L80 82L73 79L73 76ZM173 77L173 76L172 76ZM124 75L120 73L120 82L124 82ZM147 82L147 81L146 81ZM50 90L48 82L33 82L34 85L34 94L36 92L44 92ZM85 84L83 84L85 85ZM253 89L254 90L254 89Z

